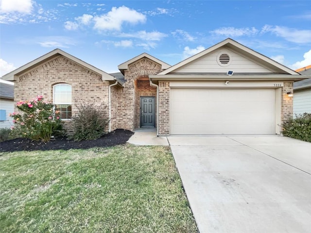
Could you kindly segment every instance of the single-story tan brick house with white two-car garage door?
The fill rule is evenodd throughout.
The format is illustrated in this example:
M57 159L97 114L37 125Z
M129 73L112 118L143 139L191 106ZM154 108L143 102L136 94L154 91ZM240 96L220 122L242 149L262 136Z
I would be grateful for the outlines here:
M294 70L228 38L174 66L142 53L107 74L56 49L3 76L15 100L53 100L70 129L81 101L109 106L109 130L279 134L293 116Z

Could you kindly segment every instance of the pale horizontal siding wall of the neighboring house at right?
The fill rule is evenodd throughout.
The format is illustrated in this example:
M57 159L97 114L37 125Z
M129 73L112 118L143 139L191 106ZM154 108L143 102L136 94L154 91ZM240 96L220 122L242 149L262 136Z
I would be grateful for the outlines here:
M311 113L311 88L294 90L294 115Z

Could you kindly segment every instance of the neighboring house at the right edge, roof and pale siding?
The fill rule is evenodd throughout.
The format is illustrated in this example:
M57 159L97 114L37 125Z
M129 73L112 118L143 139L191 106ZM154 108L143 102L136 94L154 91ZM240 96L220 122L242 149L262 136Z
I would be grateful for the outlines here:
M308 79L294 82L294 115L311 113L311 65L296 72Z

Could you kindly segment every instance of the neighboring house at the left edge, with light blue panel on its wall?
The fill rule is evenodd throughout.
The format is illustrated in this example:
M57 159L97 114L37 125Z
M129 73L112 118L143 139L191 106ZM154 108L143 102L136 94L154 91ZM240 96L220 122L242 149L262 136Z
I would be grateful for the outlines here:
M14 83L0 82L0 128L10 128L13 118L9 116L14 112Z

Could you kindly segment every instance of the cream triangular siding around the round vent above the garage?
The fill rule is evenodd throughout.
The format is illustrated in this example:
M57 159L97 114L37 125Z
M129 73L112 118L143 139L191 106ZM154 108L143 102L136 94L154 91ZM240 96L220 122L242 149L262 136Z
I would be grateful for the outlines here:
M222 67L217 63L217 56L220 53L228 53L230 55L230 64ZM221 48L208 53L204 57L191 62L188 65L177 69L176 73L226 73L228 70L233 70L235 73L272 73L271 70L261 67L255 62L239 55L238 53Z

